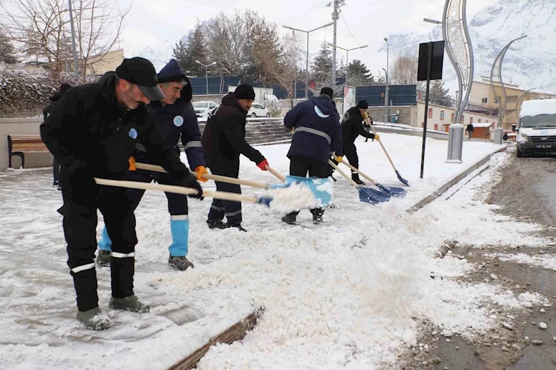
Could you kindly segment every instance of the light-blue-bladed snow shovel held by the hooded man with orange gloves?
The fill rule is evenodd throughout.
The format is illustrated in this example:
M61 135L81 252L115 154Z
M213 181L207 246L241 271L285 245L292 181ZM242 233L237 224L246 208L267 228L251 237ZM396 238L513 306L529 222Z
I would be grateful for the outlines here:
M149 165L147 163L140 163L140 162L133 162L133 165L136 167L136 169L145 169L147 171L155 171L155 172L163 172L163 173L166 172L166 170L163 167L157 165ZM284 177L281 176L281 174L279 174L277 171L274 172L272 171L271 171L272 174L274 174L280 179L283 179L282 181L284 181L284 184L260 183L259 181L240 180L239 178L213 175L213 174L203 174L203 178L206 178L207 180L220 181L222 183L258 187L259 189L264 189L264 190L284 189L285 187L289 187L292 184L301 183L305 187L308 187L309 190L311 190L319 206L325 207L332 204L334 187L332 185L332 182L329 180L329 178L304 178L298 176ZM197 176L197 172L191 171L191 174Z

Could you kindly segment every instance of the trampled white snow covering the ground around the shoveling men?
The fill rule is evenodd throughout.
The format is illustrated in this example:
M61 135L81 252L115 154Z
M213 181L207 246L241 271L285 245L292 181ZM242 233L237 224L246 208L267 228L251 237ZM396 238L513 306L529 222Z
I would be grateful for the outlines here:
M185 272L165 266L171 242L166 200L147 192L136 212L135 285L136 294L157 307L142 315L111 311L120 324L104 333L83 330L74 320L74 290L55 212L60 194L44 190L49 171L1 174L0 368L165 369L259 305L265 313L256 328L242 342L213 346L197 369L389 367L400 351L416 344L419 318L469 335L495 325L489 305L518 308L518 297L493 285L457 282L455 277L474 267L449 256L436 259L434 252L446 239L541 244L529 235L536 226L499 217L493 206L477 200L507 154L494 155L493 168L447 201L408 215L404 210L500 146L465 142L464 164L454 165L444 162L447 142L427 140L420 180L420 138L381 137L411 183L405 199L361 203L357 190L335 174L336 208L325 212L322 224L313 225L303 211L298 224L288 226L270 209L244 204L249 233L208 230L210 200L190 200L188 258L195 269ZM378 143L359 140L357 146L361 170L384 185L403 186ZM272 167L287 173L288 145L259 149ZM278 182L245 158L240 174ZM101 227L99 222L98 233ZM107 308L109 270L98 268L97 274L100 305ZM141 330L153 333L120 340Z

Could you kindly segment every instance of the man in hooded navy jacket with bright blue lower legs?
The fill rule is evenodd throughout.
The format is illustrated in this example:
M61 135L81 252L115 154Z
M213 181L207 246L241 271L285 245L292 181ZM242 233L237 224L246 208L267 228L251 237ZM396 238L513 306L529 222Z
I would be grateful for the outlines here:
M152 101L149 105L156 113L156 121L161 126L167 143L174 147L179 155L179 140L185 148L189 167L197 172L197 180L206 182L201 176L208 173L203 158L201 145L201 132L197 123L197 115L191 104L191 84L176 60L172 59L161 72L158 73L158 86L164 92L165 99ZM137 162L160 165L153 162L145 147L141 144L136 146L133 154ZM132 169L130 166L130 169ZM150 183L155 180L164 185L176 185L167 174L154 174L149 171L128 171L126 180L142 181ZM133 210L137 208L145 190L129 190L129 197ZM170 212L170 230L172 232L172 244L170 244L170 258L168 264L179 269L186 270L193 267L186 255L188 253L189 239L189 217L187 196L182 194L165 193L168 201L168 212ZM111 239L108 237L106 227L102 230L99 242L99 255L97 263L101 266L109 266L111 261Z

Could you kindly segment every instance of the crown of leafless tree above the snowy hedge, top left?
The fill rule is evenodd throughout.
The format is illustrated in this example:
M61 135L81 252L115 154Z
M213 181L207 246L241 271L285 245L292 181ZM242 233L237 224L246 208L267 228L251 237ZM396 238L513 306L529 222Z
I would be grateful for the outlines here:
M70 50L70 15L63 0L13 0L8 9L2 2L0 29L17 50L30 60L41 62L53 74L64 67ZM76 49L81 75L110 51L122 32L124 11L115 0L74 1Z

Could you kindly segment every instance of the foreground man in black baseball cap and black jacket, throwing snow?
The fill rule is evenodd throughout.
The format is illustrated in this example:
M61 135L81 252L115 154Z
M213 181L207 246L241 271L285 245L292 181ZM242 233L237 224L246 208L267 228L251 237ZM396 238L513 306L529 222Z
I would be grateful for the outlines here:
M77 319L85 327L110 326L99 310L95 250L97 209L112 244L111 278L113 309L147 312L149 305L133 294L135 216L127 192L121 187L97 186L96 178L120 179L129 167L136 141L184 187L202 188L166 143L154 112L146 105L164 99L156 70L149 60L125 59L116 72L107 72L98 83L74 87L65 94L40 126L42 140L60 162L60 185L67 242L67 264L77 295Z

